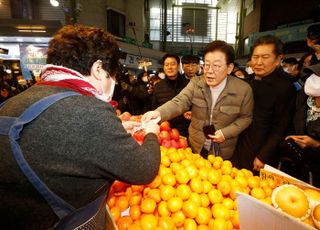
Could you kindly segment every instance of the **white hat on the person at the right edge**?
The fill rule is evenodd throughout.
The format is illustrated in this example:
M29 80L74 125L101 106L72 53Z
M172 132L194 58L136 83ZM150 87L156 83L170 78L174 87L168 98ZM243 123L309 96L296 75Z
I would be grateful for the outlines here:
M304 85L304 92L311 97L320 96L320 64L307 67L313 74L308 77Z

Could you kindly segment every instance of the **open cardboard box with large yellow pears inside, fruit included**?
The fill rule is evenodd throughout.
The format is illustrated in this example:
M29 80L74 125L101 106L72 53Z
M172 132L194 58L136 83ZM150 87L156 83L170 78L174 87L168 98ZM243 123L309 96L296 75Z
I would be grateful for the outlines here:
M272 206L238 193L242 229L319 229L320 189L268 165L261 170L260 177L261 181L271 180L276 186L272 191Z

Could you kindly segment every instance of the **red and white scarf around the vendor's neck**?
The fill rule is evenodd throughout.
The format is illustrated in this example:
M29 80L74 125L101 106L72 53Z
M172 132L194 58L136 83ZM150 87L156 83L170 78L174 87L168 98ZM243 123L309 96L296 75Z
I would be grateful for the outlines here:
M78 71L56 65L45 65L42 70L41 82L38 85L50 85L68 88L85 96L94 96L99 100L106 101L100 93L88 80ZM117 107L116 101L109 102Z

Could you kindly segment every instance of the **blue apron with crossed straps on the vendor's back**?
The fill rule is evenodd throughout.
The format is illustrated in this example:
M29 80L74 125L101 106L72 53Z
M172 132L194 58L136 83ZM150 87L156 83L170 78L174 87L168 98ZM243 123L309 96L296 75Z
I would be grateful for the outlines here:
M96 200L82 208L76 209L72 207L66 201L53 193L46 184L41 181L25 160L17 142L20 138L19 134L25 124L34 120L55 102L69 96L77 95L80 94L74 91L57 93L42 98L32 104L19 117L0 116L0 135L6 135L9 137L13 156L21 171L41 196L47 201L53 212L59 217L60 220L55 224L53 229L105 229L106 209L104 201L106 191L104 191ZM0 108L3 104L4 103L0 105Z

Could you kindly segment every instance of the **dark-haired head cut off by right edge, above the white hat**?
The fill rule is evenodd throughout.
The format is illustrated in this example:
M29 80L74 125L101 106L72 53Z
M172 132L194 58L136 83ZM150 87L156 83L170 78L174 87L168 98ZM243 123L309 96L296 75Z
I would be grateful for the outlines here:
M308 27L307 45L314 51L310 65L320 63L320 24L313 24Z

